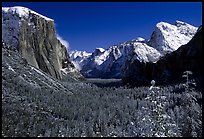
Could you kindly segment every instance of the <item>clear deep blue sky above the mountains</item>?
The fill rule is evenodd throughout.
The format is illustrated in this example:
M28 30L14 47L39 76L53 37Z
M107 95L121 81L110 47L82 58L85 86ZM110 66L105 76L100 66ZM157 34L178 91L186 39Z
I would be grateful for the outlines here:
M202 2L2 2L24 6L55 20L70 50L94 51L123 41L149 39L156 23L202 24Z

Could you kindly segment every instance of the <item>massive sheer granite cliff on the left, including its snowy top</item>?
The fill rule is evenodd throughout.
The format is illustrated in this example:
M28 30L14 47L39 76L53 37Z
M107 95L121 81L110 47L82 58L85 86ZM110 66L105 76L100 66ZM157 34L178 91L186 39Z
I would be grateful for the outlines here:
M2 42L57 79L72 71L77 73L55 31L54 20L28 8L2 7Z

